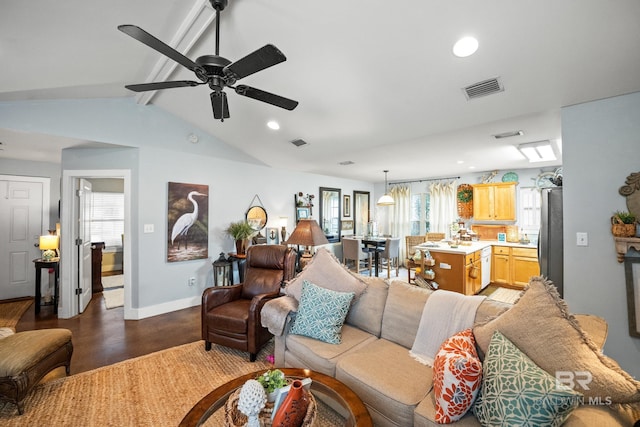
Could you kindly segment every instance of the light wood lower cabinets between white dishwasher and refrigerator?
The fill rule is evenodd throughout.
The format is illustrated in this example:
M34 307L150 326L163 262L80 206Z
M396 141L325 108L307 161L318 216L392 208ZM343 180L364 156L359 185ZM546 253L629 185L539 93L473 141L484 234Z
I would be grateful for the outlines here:
M524 288L532 276L540 275L536 248L494 246L491 260L491 282Z

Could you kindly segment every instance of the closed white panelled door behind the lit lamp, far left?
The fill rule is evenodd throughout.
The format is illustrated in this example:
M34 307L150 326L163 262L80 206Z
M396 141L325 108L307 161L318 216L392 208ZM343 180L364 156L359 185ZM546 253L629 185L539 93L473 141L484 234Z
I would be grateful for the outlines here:
M0 175L0 300L35 295L33 260L41 257L38 241L49 225L48 215L43 223L48 182Z

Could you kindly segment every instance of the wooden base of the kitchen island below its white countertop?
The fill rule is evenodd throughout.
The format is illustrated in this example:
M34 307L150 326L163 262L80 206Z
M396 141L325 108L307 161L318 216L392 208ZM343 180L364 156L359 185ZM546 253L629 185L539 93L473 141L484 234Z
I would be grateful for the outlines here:
M431 256L435 261L431 269L435 273L435 282L440 286L439 289L465 295L474 295L480 290L480 251L465 255L431 250Z

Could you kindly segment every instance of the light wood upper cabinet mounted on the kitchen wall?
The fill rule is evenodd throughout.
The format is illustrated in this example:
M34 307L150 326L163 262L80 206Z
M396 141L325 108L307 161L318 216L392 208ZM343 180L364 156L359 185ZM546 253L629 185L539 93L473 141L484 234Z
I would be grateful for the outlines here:
M516 220L515 182L476 184L473 186L473 219Z

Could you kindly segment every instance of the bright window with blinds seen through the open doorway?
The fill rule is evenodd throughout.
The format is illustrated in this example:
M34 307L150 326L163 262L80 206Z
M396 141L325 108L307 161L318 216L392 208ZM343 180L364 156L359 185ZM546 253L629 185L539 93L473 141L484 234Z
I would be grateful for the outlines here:
M91 193L91 240L122 246L124 193Z

